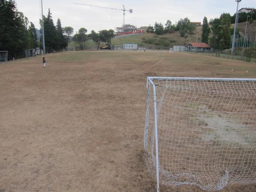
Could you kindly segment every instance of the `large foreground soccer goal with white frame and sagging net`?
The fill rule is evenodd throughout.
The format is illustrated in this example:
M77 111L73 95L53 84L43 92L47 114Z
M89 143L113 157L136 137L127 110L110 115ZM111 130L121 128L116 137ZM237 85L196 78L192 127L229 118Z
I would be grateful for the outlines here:
M148 77L144 151L157 191L256 182L256 79Z

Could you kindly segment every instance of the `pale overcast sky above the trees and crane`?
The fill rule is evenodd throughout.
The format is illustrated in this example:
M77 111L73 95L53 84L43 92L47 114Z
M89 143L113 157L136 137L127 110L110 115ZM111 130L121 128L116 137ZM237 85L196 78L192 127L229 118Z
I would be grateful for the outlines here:
M29 21L39 26L41 17L41 0L16 0L17 8L23 12ZM219 17L221 13L228 12L233 15L236 12L236 0L43 0L43 12L47 15L48 8L52 13L54 23L58 18L61 25L72 26L74 33L84 27L99 31L100 29L115 29L122 25L122 11L101 9L96 7L81 6L73 3L93 4L122 9L133 9L133 13L125 13L125 24L133 24L137 27L154 25L154 22L172 23L180 18L189 17L192 22L208 18ZM242 0L242 7L256 8L256 0Z

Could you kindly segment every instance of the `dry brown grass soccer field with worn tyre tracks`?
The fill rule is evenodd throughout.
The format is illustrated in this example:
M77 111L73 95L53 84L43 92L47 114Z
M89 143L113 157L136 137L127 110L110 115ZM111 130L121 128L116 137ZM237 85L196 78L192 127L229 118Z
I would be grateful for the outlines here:
M46 68L41 60L0 64L0 192L156 191L143 161L146 77L256 77L256 64L186 53L61 52L46 55Z

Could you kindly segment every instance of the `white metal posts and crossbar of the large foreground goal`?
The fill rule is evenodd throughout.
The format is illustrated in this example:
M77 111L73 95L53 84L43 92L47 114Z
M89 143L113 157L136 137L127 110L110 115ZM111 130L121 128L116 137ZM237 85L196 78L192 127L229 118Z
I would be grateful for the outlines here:
M158 135L157 135L157 91L156 84L153 80L198 80L198 81L254 81L256 79L233 79L233 78L195 78L195 77L147 77L147 109L145 117L145 130L144 130L144 150L147 150L148 142L148 114L149 114L149 99L150 99L150 86L153 87L153 99L154 99L154 134L155 134L155 157L156 157L156 175L157 175L157 192L159 192L159 154L158 154Z

